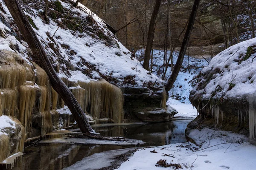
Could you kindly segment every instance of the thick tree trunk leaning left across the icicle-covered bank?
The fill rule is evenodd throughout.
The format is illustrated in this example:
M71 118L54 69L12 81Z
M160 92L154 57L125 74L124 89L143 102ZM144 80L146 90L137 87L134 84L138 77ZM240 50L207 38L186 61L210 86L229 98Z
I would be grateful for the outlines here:
M42 47L38 37L35 34L35 31L29 24L29 21L26 18L26 15L23 12L22 7L20 6L19 0L4 0L7 8L9 9L12 17L17 24L21 34L29 45L29 48L32 51L32 59L37 63L41 68L46 71L49 76L52 88L61 96L61 98L66 103L67 107L70 109L71 113L74 116L79 128L82 133L91 133L93 129L91 128L87 117L85 116L81 106L77 102L75 96L67 88L64 82L58 77L58 74L55 72L52 64L47 57L44 48Z

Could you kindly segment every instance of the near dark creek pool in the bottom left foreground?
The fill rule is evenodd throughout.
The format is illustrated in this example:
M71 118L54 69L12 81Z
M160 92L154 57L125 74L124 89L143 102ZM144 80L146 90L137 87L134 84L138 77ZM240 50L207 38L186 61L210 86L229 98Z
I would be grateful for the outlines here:
M127 147L98 144L41 144L26 148L25 155L17 159L12 170L62 170L94 153L123 148ZM4 169L6 166L0 166L0 170ZM11 170L11 167L7 170Z

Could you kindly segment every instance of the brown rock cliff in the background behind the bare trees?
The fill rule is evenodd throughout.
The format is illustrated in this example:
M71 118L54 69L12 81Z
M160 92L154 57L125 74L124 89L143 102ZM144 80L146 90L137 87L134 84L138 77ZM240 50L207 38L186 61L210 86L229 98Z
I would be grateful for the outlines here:
M155 48L163 48L166 43L164 42L164 35L166 31L166 22L168 22L168 14L171 17L172 38L175 42L178 39L177 44L178 46L181 45L183 34L180 37L178 36L186 26L193 2L193 0L173 1L169 9L167 3L161 4L155 28ZM137 19L138 22L129 24L127 28L119 30L116 34L128 49L138 49L145 44L148 23L154 8L154 1L128 0L126 3L121 3L119 0L99 0L97 2L85 0L83 3L90 4L90 9L95 11L99 17L102 17L102 19L116 30L125 26L134 19ZM120 10L120 8L123 10ZM199 50L193 50L198 48L192 48L191 51L193 55L215 55L218 54L221 49L223 50L223 47L220 47L220 45L216 47L207 47L208 45L215 45L224 42L224 38L221 36L223 34L221 20L213 14L214 8L214 3L209 3L208 0L202 0L200 10L198 10L196 18L197 21L194 24L194 29L189 40L189 46L204 46L204 49L199 48ZM201 24L209 29L209 31ZM210 32L215 34L210 34ZM209 40L209 36L211 40Z

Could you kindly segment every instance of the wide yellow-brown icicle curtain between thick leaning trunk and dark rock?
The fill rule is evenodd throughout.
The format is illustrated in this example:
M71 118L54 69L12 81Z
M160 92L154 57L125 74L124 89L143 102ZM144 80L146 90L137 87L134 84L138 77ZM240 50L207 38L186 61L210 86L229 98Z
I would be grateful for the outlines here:
M104 79L78 84L80 87L72 87L70 90L86 113L94 118L110 118L115 123L123 122L123 95L120 88ZM163 102L166 102L164 94Z

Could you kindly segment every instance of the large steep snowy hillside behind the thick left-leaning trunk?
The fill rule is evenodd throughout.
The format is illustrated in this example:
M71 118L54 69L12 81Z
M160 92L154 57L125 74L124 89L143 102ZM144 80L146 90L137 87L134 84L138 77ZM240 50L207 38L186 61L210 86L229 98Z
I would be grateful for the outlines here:
M0 50L15 51L29 60L29 49L3 0L0 0ZM59 76L69 81L88 82L104 78L118 86L160 85L106 27L105 22L85 6L67 0L26 0L23 9ZM151 83L149 83L151 82Z

